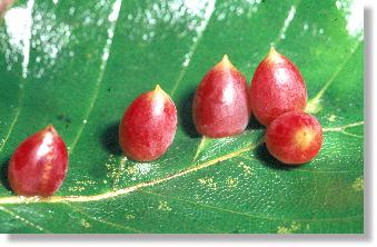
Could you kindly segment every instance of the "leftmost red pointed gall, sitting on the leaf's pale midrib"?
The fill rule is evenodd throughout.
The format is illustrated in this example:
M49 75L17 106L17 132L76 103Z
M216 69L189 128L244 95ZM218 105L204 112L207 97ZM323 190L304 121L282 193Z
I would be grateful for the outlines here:
M19 196L52 196L68 170L65 141L52 125L23 140L9 161L8 179Z

